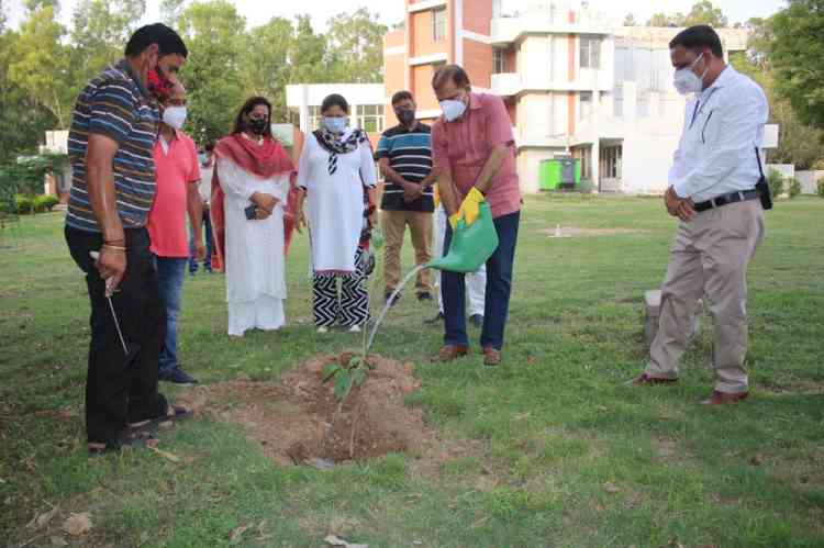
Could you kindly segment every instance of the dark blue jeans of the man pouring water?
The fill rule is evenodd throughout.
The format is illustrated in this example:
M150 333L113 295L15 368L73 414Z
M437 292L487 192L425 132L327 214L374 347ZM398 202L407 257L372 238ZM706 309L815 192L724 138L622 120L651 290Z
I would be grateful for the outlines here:
M503 215L494 220L498 232L498 249L487 260L487 299L483 307L483 329L480 344L482 348L503 348L503 331L506 326L506 314L510 307L512 290L512 267L515 260L517 225L521 212ZM452 225L446 223L444 238L445 254L452 243ZM441 291L444 298L444 344L468 346L466 334L466 288L464 273L441 272Z

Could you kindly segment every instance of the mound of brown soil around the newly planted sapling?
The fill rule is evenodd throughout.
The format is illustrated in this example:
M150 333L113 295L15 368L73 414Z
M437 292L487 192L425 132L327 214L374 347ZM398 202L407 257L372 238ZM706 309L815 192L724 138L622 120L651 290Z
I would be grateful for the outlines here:
M420 410L403 398L417 389L412 364L370 356L366 382L353 388L341 405L333 382L322 381L323 368L348 364L350 354L316 358L278 383L233 381L208 388L209 400L233 401L208 409L220 421L243 424L281 463L316 459L358 460L421 447L433 439Z

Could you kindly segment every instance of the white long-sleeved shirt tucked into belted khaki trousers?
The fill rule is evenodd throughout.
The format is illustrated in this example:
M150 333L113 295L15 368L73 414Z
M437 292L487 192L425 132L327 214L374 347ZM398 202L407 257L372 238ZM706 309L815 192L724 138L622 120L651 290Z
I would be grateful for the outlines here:
M754 189L760 177L756 147L768 118L761 88L727 66L712 86L687 102L669 170L676 193L698 203Z

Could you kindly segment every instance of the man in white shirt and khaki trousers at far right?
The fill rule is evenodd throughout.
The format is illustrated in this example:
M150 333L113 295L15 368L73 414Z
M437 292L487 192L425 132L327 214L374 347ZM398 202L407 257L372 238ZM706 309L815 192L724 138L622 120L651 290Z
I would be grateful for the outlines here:
M757 147L769 108L761 88L724 63L721 40L710 26L682 31L669 47L676 89L694 93L687 102L665 195L667 211L681 223L661 287L649 364L633 383L676 382L692 311L705 295L715 328L715 389L701 403L734 403L749 390L746 275L764 237L755 187L762 169Z

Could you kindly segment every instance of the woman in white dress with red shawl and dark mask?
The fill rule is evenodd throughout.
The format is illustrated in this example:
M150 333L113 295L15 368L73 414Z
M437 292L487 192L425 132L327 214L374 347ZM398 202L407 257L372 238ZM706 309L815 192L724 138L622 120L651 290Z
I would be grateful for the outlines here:
M268 101L250 99L237 116L236 132L215 148L225 226L218 248L223 253L232 336L286 323L283 216L293 168L271 137L269 116Z

